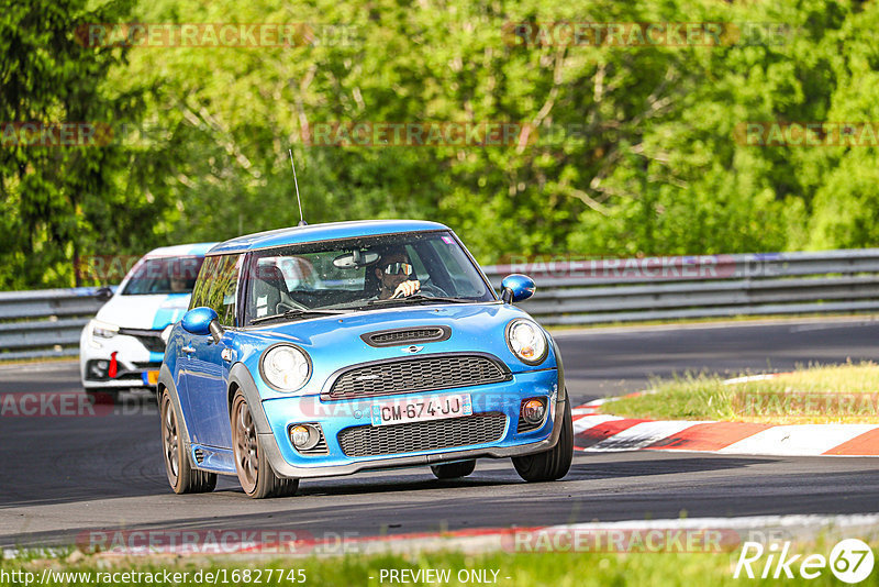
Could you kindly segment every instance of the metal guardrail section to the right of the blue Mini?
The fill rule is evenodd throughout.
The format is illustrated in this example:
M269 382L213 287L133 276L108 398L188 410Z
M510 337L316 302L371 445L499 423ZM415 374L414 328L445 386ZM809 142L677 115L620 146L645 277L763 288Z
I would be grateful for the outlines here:
M511 263L534 278L522 308L547 325L879 310L879 248Z

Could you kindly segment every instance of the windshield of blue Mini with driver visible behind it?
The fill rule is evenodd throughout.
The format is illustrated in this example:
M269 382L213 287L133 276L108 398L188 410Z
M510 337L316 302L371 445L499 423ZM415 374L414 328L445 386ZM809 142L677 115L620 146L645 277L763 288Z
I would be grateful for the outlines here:
M251 257L249 276L245 324L271 317L310 317L321 310L496 299L447 231L259 251Z

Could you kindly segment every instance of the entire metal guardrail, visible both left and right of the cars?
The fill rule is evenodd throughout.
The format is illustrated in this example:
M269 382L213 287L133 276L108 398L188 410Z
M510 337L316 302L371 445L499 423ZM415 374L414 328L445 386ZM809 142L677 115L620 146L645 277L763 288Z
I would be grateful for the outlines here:
M515 259L514 259L515 261ZM522 308L543 324L879 311L879 248L628 259L514 262L483 267L500 289L524 273ZM97 288L0 292L0 359L76 356L101 307Z

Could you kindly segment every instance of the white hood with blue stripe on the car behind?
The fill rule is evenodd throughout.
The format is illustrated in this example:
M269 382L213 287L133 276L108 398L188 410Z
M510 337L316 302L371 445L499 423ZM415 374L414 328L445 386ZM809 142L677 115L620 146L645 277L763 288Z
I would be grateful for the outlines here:
M116 294L101 307L94 318L122 328L162 330L182 318L189 307L189 294Z

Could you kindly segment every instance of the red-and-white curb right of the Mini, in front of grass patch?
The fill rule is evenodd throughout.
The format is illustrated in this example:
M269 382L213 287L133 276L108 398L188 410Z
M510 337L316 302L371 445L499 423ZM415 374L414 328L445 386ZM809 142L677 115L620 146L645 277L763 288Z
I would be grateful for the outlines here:
M879 424L791 424L647 420L598 413L596 400L572 410L582 452L696 451L767 456L879 456Z

